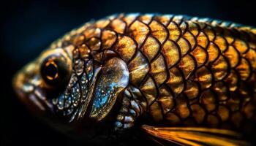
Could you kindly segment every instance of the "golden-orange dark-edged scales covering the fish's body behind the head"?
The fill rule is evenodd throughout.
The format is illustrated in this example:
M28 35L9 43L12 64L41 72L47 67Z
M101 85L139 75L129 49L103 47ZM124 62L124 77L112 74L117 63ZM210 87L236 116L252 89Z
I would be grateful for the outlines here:
M140 103L132 120L147 113L148 123L237 129L256 119L255 35L221 20L121 14L85 23L50 48L124 60L124 96Z

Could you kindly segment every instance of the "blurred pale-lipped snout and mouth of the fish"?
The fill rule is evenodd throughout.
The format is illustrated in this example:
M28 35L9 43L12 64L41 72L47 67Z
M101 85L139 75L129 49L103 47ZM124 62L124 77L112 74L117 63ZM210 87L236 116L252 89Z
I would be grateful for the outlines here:
M36 63L26 65L12 79L12 87L18 99L36 114L52 111L53 106L47 100L42 89L42 80L37 74Z

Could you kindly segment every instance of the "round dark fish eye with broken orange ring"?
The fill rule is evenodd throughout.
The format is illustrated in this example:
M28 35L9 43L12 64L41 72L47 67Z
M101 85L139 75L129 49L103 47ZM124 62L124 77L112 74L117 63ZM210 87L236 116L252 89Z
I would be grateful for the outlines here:
M69 79L69 65L64 56L49 55L42 61L40 74L47 85L59 87Z

